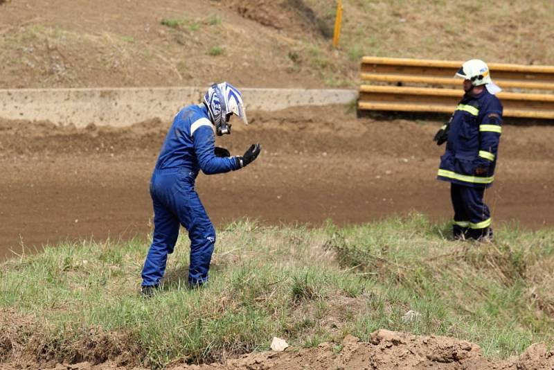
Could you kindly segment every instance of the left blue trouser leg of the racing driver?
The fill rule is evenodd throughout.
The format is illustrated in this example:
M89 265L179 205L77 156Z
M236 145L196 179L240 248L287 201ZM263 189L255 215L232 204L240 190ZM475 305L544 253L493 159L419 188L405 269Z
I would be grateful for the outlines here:
M154 235L152 244L144 262L142 278L143 286L159 285L164 272L166 272L166 263L168 254L173 252L177 236L179 236L179 220L175 215L163 204L157 194L155 181L156 176L152 179L150 186L150 195L154 206ZM159 185L159 184L158 184Z

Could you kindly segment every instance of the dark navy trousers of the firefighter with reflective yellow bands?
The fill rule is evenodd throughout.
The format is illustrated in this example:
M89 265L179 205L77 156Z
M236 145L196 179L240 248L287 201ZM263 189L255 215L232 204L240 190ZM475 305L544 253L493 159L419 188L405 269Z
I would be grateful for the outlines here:
M467 224L467 229L464 231L465 238L479 239L490 235L490 211L483 202L484 194L484 188L452 184L455 233L456 226Z

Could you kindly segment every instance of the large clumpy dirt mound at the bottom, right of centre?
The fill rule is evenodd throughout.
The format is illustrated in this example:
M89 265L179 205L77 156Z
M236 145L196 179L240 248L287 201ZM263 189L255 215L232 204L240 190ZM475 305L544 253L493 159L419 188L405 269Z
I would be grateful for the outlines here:
M449 337L415 337L379 330L371 342L347 335L342 344L283 353L263 352L230 360L226 369L488 369L490 363L475 344ZM205 369L218 369L217 365ZM221 367L222 369L224 367ZM185 367L186 369L186 367ZM192 369L192 367L191 367ZM201 369L203 369L201 367Z

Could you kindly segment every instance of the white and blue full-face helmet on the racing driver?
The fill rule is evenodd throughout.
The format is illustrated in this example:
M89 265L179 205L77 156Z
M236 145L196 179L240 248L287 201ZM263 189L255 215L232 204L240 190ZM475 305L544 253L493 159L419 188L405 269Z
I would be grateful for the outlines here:
M212 85L204 95L204 104L208 107L218 135L231 134L231 125L227 123L233 114L239 116L244 124L248 125L242 94L227 82Z

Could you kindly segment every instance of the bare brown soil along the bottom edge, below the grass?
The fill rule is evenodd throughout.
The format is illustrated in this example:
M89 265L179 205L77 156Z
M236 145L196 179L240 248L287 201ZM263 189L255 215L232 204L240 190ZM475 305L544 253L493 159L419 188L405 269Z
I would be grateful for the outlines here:
M0 310L1 369L145 370L144 358L131 335L91 330L79 340L44 339L44 328L32 317ZM60 357L61 356L61 357ZM60 362L58 362L60 361ZM148 364L143 364L147 366ZM369 342L347 335L341 345L322 343L312 349L249 353L218 364L168 364L168 370L202 369L553 369L554 352L533 344L518 357L488 360L476 344L452 337L415 336L378 330Z

